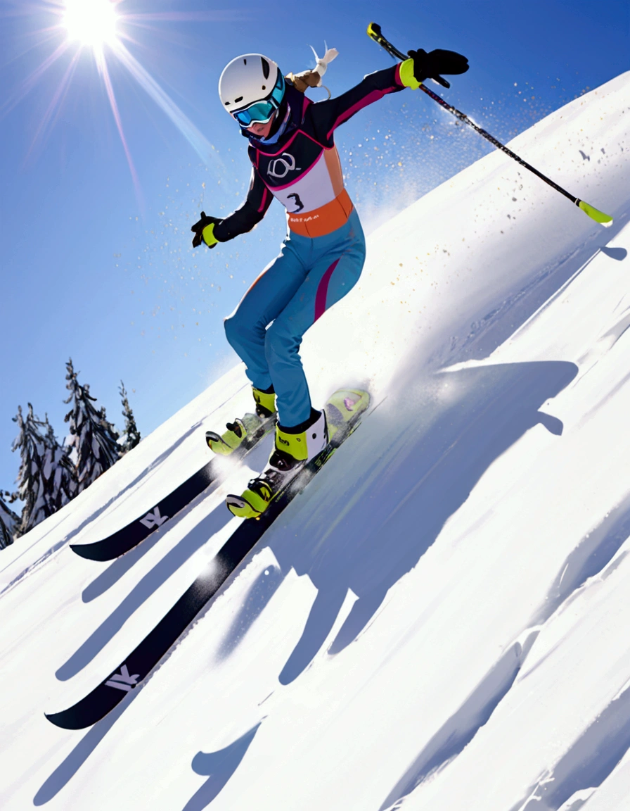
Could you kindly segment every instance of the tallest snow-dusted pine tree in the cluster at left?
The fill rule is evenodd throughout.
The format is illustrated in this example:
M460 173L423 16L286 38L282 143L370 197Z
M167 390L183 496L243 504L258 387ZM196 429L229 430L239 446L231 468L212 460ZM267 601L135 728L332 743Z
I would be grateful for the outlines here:
M97 411L92 405L96 397L90 394L90 387L79 384L72 358L66 363L66 368L66 388L70 391L70 397L64 402L72 402L72 408L65 420L70 423L69 446L72 448L80 493L118 461L119 435L112 423L108 423L104 408Z

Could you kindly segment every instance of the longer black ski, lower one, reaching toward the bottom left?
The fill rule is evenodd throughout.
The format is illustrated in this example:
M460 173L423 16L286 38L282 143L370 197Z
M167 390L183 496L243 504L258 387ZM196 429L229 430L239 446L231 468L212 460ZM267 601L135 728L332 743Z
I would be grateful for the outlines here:
M373 410L373 409L372 409ZM51 723L63 729L84 729L104 718L120 704L127 693L141 684L160 659L168 653L185 629L193 622L206 603L215 596L223 583L235 571L249 551L258 543L283 509L310 482L326 464L340 444L359 426L362 414L356 414L334 435L326 448L304 466L296 478L287 484L272 501L265 513L257 519L244 520L212 560L211 564L185 590L177 603L144 637L138 647L110 673L92 693L67 710L47 714Z

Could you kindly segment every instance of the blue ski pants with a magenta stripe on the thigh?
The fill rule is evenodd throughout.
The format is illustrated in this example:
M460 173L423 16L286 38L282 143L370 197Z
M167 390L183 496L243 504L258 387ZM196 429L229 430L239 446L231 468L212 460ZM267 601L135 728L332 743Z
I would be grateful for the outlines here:
M358 281L365 238L353 209L345 225L323 237L287 234L275 258L224 321L225 334L245 362L253 386L272 384L279 423L293 427L311 414L300 360L306 330Z

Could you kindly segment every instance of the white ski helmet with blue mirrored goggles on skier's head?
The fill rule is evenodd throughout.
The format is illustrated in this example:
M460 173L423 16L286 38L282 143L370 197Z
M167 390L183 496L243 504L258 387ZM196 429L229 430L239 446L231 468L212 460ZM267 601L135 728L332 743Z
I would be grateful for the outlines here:
M284 97L284 77L273 59L243 54L232 59L219 77L223 107L241 127L269 121Z

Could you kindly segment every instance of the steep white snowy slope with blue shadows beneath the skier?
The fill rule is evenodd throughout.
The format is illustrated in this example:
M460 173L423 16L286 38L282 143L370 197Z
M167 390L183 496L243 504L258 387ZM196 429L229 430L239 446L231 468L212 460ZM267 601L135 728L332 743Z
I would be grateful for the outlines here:
M74 555L208 461L236 367L0 552L2 809L630 808L630 73L381 226L308 333L377 410L141 689L66 709L238 526L269 444L109 564Z

